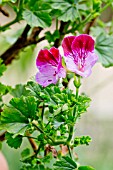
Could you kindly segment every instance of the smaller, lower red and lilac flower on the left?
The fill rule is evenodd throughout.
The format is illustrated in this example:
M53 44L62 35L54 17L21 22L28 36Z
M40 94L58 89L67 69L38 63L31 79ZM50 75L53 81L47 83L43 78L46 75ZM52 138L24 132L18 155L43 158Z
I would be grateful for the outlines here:
M36 59L36 66L39 70L36 74L36 81L43 87L56 84L59 78L65 78L66 76L61 55L55 47L50 50L40 50Z

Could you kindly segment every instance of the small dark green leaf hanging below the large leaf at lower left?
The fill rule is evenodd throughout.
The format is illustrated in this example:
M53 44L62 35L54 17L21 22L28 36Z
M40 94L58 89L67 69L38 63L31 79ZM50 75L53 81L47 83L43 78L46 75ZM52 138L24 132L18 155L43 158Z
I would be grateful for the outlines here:
M6 133L5 138L7 140L7 144L15 149L19 148L22 143L22 137L20 135L13 138L13 134Z

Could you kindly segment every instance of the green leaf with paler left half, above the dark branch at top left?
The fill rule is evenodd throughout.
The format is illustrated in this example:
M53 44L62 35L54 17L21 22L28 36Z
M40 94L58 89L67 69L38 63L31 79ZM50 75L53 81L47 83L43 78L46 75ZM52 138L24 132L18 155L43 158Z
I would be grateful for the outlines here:
M26 22L31 27L46 28L51 25L51 17L47 12L39 12L39 11L32 12L28 9L25 9L23 11L23 19L25 19Z

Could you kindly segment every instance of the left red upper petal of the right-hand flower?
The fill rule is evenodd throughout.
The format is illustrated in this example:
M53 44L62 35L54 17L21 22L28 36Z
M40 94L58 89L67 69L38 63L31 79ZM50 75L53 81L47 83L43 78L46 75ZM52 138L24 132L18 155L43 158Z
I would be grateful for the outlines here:
M65 37L63 39L62 47L63 47L64 55L65 56L73 55L73 52L72 52L72 49L71 49L71 45L72 45L72 42L74 41L74 39L75 39L75 36L68 36L68 37Z

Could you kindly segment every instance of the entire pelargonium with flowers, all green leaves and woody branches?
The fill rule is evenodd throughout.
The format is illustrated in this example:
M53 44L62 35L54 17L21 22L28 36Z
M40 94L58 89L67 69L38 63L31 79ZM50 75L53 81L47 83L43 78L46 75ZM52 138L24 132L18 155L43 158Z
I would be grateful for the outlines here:
M109 6L112 0L0 1L2 15L9 16L7 7L15 13L0 27L1 35L24 22L19 31L15 28L14 41L1 49L0 76L24 50L33 53L40 42L48 42L37 50L37 72L26 84L0 83L0 144L6 140L17 149L26 138L32 147L21 152L21 170L95 169L79 163L76 153L76 147L92 140L76 135L76 124L91 102L79 89L96 62L113 66L113 21L104 23L100 17ZM11 100L5 103L7 94Z

